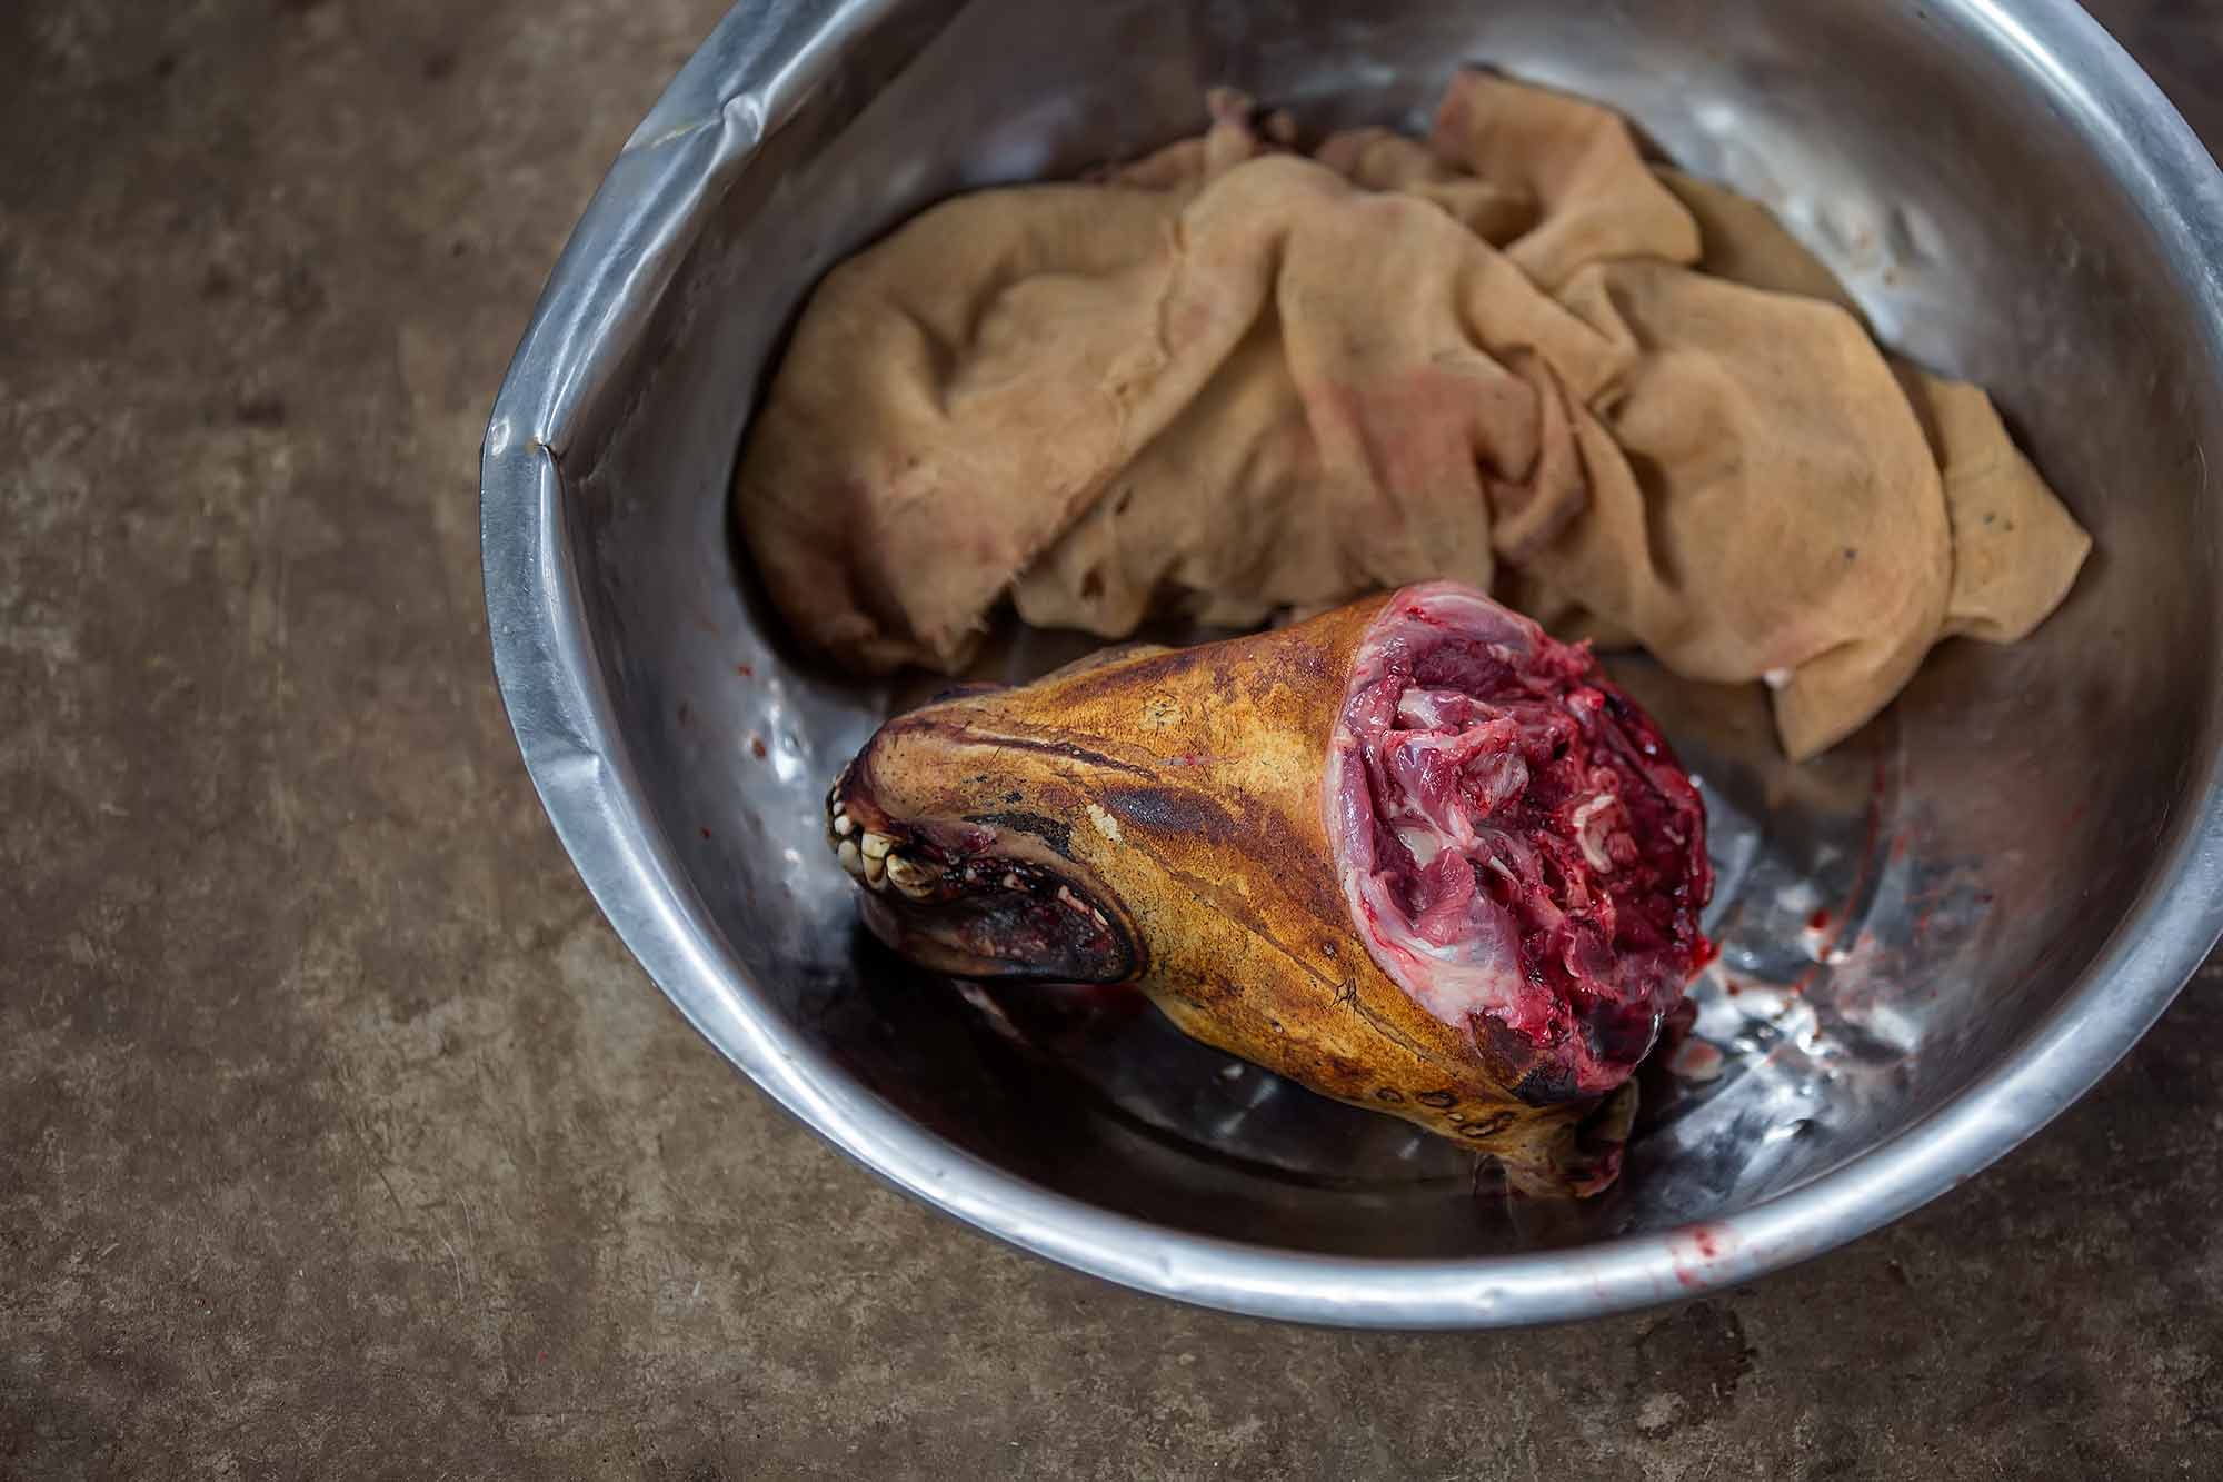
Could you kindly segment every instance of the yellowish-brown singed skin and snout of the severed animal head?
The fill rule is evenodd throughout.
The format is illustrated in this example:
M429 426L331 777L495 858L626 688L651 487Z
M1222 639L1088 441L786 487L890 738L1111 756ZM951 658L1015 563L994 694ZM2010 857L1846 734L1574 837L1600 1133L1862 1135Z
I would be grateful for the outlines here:
M1596 1193L1634 1084L1523 1101L1518 1068L1383 975L1336 881L1327 748L1383 603L898 717L836 781L827 839L927 968L1136 984L1183 1033L1492 1155L1523 1193Z

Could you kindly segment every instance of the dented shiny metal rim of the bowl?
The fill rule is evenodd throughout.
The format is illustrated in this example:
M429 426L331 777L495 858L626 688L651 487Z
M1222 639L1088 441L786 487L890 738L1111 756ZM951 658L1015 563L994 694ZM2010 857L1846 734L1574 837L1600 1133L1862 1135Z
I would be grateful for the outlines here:
M740 0L634 131L562 249L480 454L487 632L511 730L589 892L727 1059L834 1146L958 1219L1136 1291L1372 1328L1556 1322L1694 1297L1832 1251L1967 1182L2043 1128L2161 1017L2223 935L2223 757L2187 779L2154 872L2081 981L1947 1104L1736 1215L1516 1255L1334 1257L1169 1231L1034 1186L865 1090L754 995L656 828L594 661L560 454L620 369L707 202L903 0L796 18ZM2116 167L2223 365L2223 174L2143 69L2070 0L1932 0L2012 53ZM2223 734L2223 699L2203 717ZM734 981L742 979L742 981Z

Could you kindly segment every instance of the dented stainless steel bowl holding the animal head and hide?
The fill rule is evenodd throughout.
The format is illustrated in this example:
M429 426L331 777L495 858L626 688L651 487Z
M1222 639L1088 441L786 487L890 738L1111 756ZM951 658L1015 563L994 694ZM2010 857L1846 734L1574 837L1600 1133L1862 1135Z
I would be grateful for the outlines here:
M1756 694L1629 665L1705 781L1727 950L1627 1177L1583 1206L1476 1199L1456 1148L1118 997L960 992L878 955L818 801L891 694L798 665L727 534L751 401L849 249L949 191L1196 129L1212 82L1325 127L1414 118L1465 60L1612 100L1774 205L1883 338L1996 392L2099 539L2036 641L1950 645L1810 768L1774 757ZM611 169L496 403L502 694L680 1010L983 1231L1338 1324L1743 1282L2027 1137L2223 928L2219 247L2205 151L2058 0L749 0Z

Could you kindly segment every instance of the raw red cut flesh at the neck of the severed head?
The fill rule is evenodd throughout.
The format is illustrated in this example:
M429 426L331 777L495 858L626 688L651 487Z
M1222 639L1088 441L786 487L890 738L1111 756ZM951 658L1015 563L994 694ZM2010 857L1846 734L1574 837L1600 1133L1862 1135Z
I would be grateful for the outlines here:
M1712 957L1689 774L1587 645L1472 590L1374 621L1325 808L1367 952L1529 1104L1621 1086Z

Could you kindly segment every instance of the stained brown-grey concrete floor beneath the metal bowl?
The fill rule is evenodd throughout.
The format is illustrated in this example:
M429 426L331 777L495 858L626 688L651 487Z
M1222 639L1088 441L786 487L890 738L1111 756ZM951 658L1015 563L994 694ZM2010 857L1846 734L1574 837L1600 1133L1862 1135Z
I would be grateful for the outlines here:
M1136 1297L731 1075L542 819L476 541L720 7L0 4L0 1473L2216 1475L2216 968L1896 1228L1521 1335ZM2103 11L2223 138L2223 2Z

